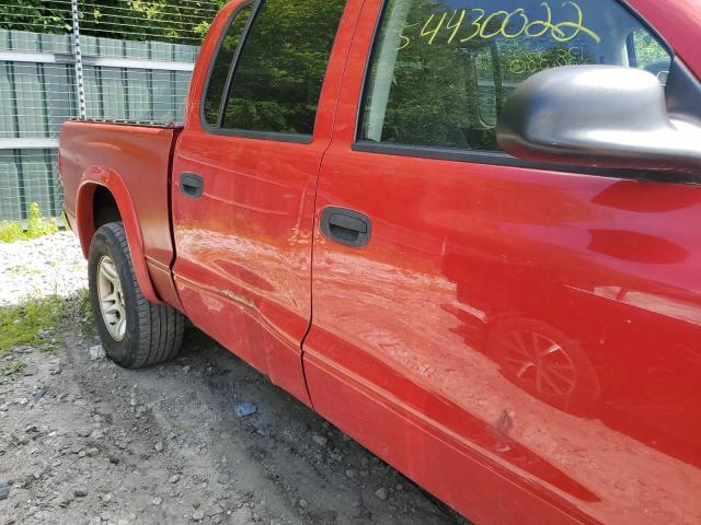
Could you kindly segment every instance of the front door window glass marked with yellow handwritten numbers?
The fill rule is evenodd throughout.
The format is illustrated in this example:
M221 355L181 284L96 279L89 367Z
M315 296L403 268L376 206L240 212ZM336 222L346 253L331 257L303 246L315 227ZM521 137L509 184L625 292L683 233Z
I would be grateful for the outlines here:
M388 0L365 90L359 138L497 150L509 93L548 68L635 66L670 57L614 0ZM639 49L640 47L640 49Z

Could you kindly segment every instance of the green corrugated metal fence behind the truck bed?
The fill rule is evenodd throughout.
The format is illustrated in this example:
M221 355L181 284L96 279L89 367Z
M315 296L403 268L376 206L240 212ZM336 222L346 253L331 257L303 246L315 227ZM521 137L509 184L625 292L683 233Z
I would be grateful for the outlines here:
M0 61L0 220L24 220L32 202L47 215L62 206L55 148L3 140L57 139L60 125L78 116L76 67L69 34L0 30L0 51L54 54ZM85 109L89 118L182 121L192 73L168 63L194 62L197 46L126 42L82 35ZM21 57L21 58L20 58ZM120 67L101 58L124 60ZM140 60L162 62L146 69ZM95 61L97 61L95 63ZM123 67L122 67L123 66ZM182 68L179 65L179 68ZM24 145L23 145L24 144Z

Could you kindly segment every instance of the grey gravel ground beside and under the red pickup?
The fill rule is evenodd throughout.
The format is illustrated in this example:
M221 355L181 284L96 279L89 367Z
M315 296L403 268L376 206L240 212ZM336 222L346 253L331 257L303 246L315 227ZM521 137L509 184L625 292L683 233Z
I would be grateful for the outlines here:
M72 234L0 265L0 304L56 292L70 314L58 350L0 358L26 366L0 377L0 525L464 523L194 328L161 366L91 359Z

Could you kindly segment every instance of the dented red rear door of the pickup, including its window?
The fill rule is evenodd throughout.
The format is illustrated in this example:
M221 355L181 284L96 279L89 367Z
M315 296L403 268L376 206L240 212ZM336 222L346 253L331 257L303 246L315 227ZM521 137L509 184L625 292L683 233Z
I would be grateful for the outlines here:
M200 51L173 165L187 315L306 402L317 176L358 3L228 4Z

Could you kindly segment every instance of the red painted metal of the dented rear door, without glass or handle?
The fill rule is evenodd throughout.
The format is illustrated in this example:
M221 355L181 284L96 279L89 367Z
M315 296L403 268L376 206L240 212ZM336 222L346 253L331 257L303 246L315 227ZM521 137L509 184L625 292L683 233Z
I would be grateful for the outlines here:
M314 136L307 144L203 129L199 94L209 60L240 4L228 4L217 16L194 73L187 124L173 165L173 271L185 311L197 326L310 404L301 341L311 320L314 194L360 2L348 2ZM187 172L204 179L200 199L180 191L180 174Z

